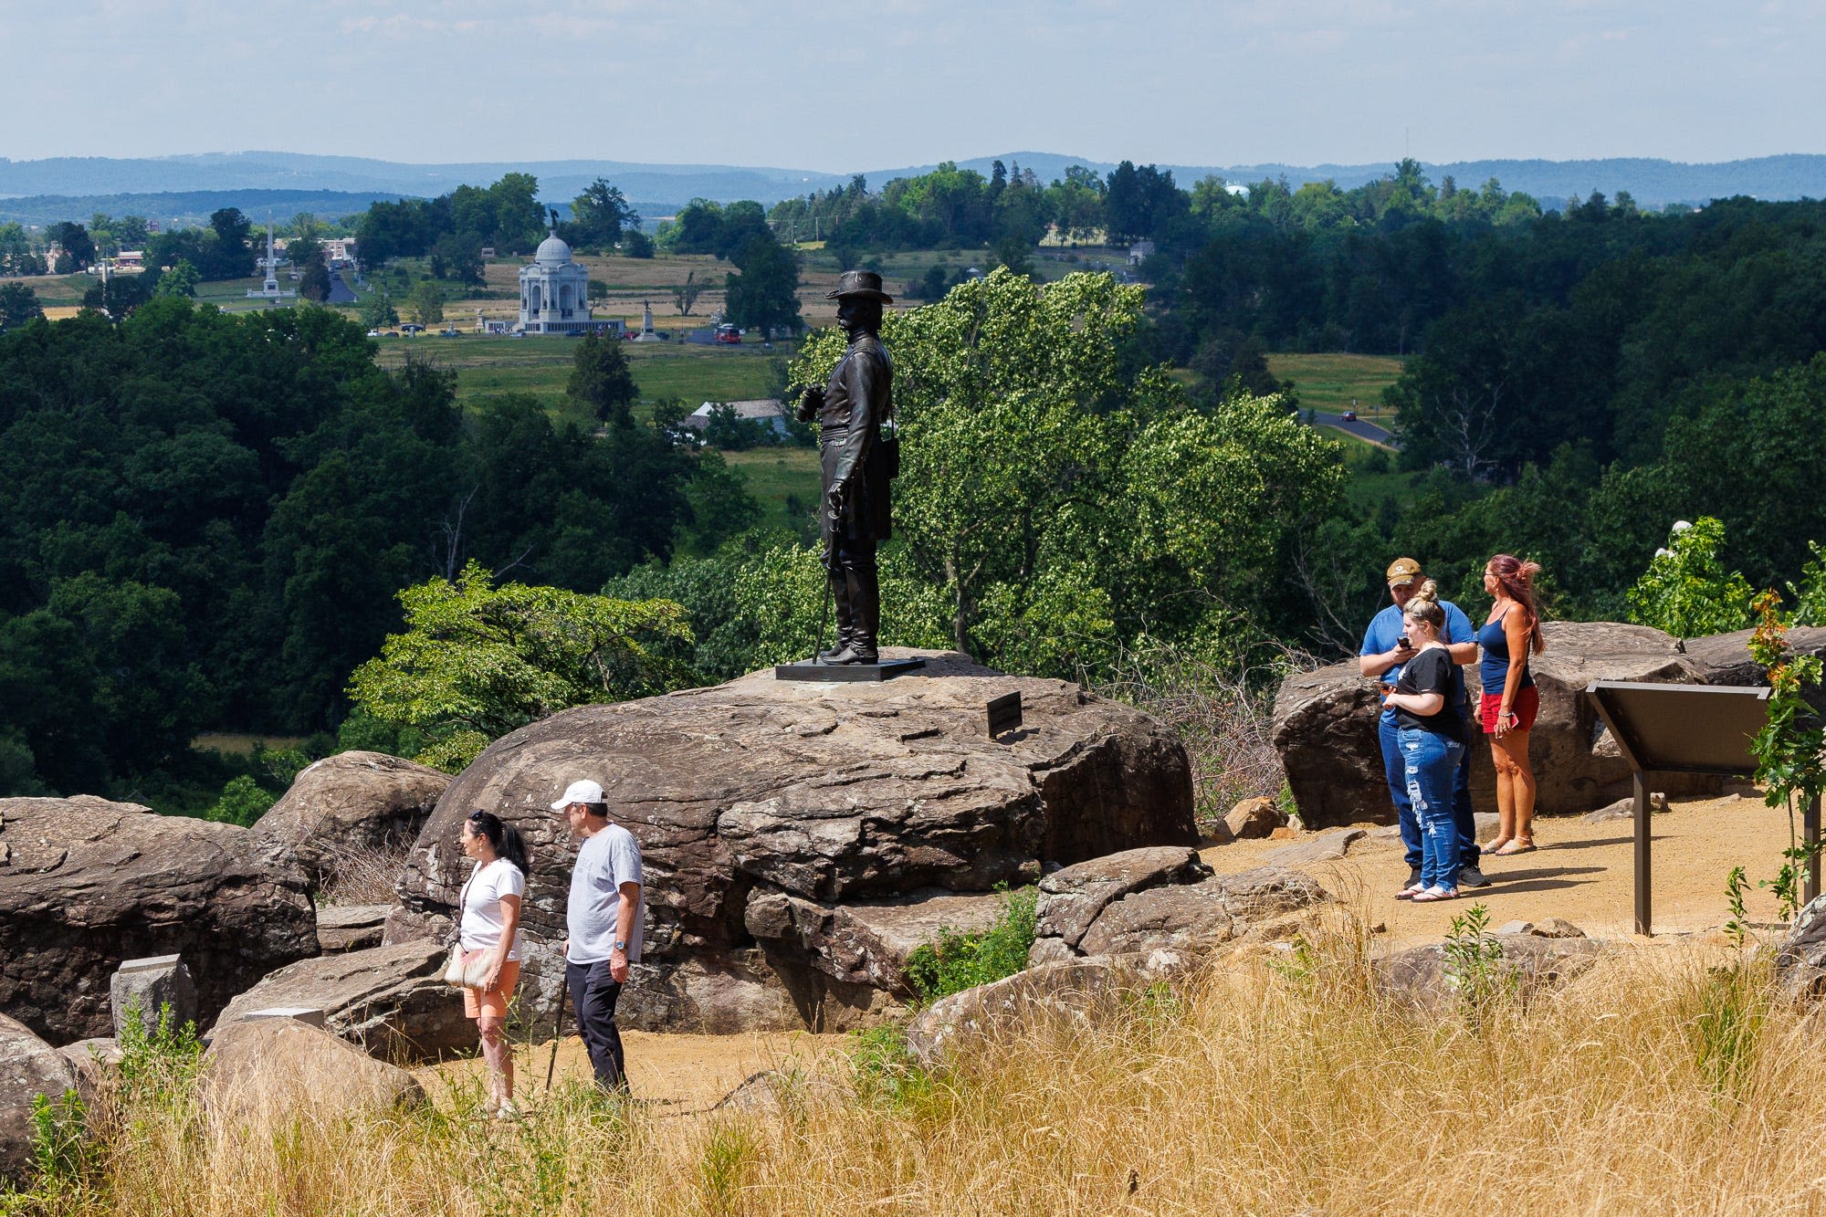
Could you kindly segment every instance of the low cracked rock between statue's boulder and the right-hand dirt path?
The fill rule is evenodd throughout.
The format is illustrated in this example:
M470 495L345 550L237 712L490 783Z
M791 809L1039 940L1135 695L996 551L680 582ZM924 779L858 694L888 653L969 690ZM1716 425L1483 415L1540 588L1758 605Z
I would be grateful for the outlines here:
M1273 936L1286 914L1331 899L1276 866L1212 875L1191 850L1128 850L1046 875L1028 961L1083 956L1198 954Z

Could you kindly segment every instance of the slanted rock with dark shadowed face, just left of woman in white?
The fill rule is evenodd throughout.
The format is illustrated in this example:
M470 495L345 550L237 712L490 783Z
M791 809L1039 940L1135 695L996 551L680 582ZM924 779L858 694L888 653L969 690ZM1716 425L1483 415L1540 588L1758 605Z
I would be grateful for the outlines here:
M420 939L279 968L228 1003L212 1036L267 1009L323 1011L327 1031L387 1062L436 1060L475 1047L462 992L444 983L446 950Z

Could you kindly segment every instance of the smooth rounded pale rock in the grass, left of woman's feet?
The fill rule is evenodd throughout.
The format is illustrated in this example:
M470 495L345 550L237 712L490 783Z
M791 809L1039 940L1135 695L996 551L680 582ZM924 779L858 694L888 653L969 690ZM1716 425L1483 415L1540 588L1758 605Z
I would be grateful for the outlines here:
M219 1027L203 1065L205 1106L236 1120L292 1122L310 1111L340 1116L427 1102L405 1069L292 1018Z

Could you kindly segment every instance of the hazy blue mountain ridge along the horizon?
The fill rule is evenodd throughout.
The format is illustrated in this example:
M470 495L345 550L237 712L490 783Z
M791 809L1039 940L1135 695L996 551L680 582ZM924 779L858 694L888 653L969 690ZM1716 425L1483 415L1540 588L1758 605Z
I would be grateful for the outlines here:
M1072 157L1055 152L1010 152L999 157L959 159L960 168L988 174L995 161L1030 168L1041 181L1063 177L1066 166L1083 164L1097 174L1116 168L1110 161ZM1786 153L1685 164L1651 157L1614 157L1603 161L1453 161L1422 163L1432 181L1453 177L1461 188L1475 188L1495 177L1506 190L1525 190L1547 206L1567 197L1585 197L1592 190L1614 196L1629 190L1642 206L1665 203L1704 203L1737 194L1758 199L1826 197L1826 155ZM886 170L858 170L871 188L895 177L926 174L935 164L909 164ZM1172 170L1181 186L1214 174L1229 183L1286 177L1298 186L1307 181L1337 181L1342 188L1373 181L1393 168L1384 164L1160 164ZM694 197L732 203L756 199L763 205L829 190L855 174L825 174L772 166L736 164L652 164L637 161L475 161L456 164L407 164L369 157L332 157L290 152L210 152L172 157L53 157L44 161L7 161L0 157L0 217L46 223L49 219L86 219L89 212L133 212L190 216L215 206L243 210L289 206L347 214L376 197L438 196L458 185L484 186L508 172L539 177L540 196L566 203L597 177L606 177L646 217L665 216ZM243 192L257 192L245 196ZM183 196L183 210L173 210ZM230 196L247 197L241 201ZM305 199L316 199L307 203ZM106 205L104 205L106 201Z

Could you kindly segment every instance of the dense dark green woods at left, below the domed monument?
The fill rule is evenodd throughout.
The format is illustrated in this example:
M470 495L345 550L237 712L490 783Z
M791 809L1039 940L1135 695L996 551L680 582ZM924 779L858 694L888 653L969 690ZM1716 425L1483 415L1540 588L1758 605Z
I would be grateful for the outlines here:
M0 334L0 793L124 793L219 724L332 727L394 594L471 559L595 592L747 526L719 457L634 420L617 356L579 349L592 435L530 397L464 415L325 309Z

